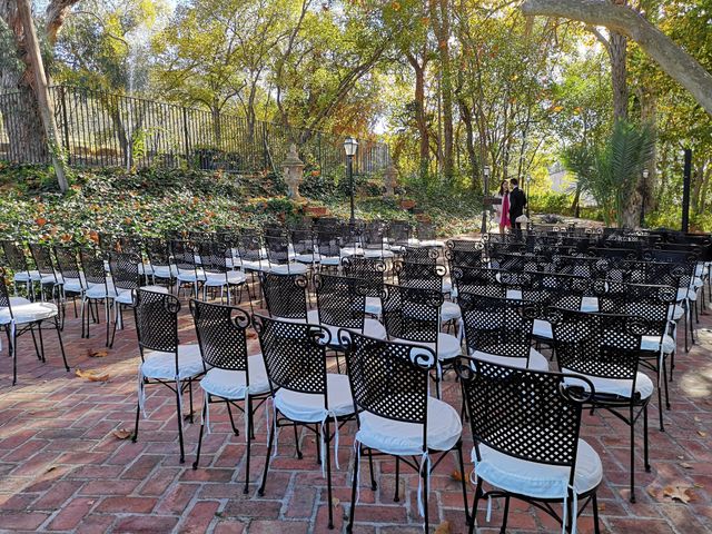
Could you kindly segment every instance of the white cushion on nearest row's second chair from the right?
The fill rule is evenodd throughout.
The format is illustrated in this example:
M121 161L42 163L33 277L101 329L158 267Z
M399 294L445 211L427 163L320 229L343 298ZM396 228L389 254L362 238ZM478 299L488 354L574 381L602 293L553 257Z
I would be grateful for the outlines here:
M423 425L380 417L370 412L358 414L356 439L367 447L398 456L423 454ZM427 447L449 451L463 433L463 424L449 404L427 399Z

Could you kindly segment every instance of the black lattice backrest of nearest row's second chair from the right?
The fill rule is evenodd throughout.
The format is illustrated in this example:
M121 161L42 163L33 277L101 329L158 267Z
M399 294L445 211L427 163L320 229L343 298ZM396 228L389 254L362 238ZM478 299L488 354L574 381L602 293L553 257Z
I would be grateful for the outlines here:
M423 425L423 451L427 451L428 375L435 353L346 330L339 332L339 340L346 347L356 413Z

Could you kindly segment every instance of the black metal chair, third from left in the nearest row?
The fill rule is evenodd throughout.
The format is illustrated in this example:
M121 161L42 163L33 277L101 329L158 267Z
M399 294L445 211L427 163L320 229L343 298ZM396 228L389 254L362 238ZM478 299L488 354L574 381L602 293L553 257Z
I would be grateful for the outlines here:
M338 428L354 417L348 376L326 372L326 347L330 344L330 335L326 328L306 323L270 319L260 315L255 315L253 323L271 384L275 411L258 493L260 496L265 494L269 458L278 428L294 427L297 454L301 457L297 426L304 426L316 434L317 462L326 463L328 524L329 528L333 528L329 447L334 441L334 456L338 468ZM324 464L322 465L324 467Z

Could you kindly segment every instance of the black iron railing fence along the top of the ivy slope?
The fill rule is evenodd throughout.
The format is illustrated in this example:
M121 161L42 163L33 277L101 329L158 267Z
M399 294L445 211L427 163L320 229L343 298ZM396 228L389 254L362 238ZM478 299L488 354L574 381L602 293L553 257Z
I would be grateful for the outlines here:
M50 98L60 142L75 166L280 171L289 145L299 140L301 159L322 172L345 165L344 138L320 131L67 86L51 87ZM28 125L31 105L20 93L0 95L0 159L49 161L44 147L26 140L33 127ZM354 167L360 174L378 171L388 158L385 144L359 139Z

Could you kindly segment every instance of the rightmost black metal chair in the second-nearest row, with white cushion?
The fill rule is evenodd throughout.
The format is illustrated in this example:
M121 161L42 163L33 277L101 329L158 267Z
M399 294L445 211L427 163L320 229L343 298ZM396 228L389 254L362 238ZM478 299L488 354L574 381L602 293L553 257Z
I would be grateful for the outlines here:
M653 380L639 370L641 344L647 333L644 318L630 315L587 314L562 308L548 310L554 333L556 362L562 373L584 376L572 385L595 389L586 399L623 421L631 429L631 502L635 502L635 424L643 417L645 471L650 471L647 447L647 404Z

